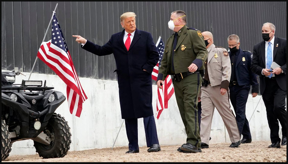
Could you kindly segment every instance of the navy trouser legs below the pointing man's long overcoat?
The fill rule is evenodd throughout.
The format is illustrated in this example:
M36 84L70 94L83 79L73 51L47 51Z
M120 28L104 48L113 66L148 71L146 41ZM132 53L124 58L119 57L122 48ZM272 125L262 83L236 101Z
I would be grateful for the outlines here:
M159 144L154 116L143 117L147 147ZM139 150L137 118L125 119L129 150Z

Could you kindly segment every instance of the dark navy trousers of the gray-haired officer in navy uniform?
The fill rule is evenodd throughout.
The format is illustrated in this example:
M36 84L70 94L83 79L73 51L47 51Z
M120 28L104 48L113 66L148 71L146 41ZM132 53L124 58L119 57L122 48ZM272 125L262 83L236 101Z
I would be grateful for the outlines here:
M240 135L243 138L251 138L249 122L246 118L246 102L248 99L250 85L238 84L229 87L230 100L236 114L236 121L239 128Z

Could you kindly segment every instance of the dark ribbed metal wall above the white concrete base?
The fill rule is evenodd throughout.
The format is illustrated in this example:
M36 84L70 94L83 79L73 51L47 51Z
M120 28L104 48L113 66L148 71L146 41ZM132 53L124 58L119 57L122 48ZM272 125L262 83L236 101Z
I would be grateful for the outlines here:
M31 71L56 3L1 2L2 69ZM166 41L172 34L167 24L175 10L187 13L188 27L211 31L217 46L228 48L227 37L237 34L240 47L252 51L262 40L265 22L276 26L277 37L286 38L286 2L58 2L56 16L78 76L116 80L114 56L96 56L81 49L72 34L103 45L123 30L120 15L133 11L139 30L151 33L155 43L160 35ZM50 39L51 31L45 41ZM41 60L33 72L55 74Z

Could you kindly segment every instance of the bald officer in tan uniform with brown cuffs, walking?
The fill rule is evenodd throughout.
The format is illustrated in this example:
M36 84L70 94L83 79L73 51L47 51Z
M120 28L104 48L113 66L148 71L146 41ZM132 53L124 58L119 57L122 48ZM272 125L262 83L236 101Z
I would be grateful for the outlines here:
M240 145L240 134L235 116L230 109L229 103L229 81L231 75L231 63L227 50L213 44L213 35L209 31L202 33L208 57L204 63L205 74L201 88L201 148L209 147L214 108L216 107L222 117L225 127L229 133L232 144L229 147Z

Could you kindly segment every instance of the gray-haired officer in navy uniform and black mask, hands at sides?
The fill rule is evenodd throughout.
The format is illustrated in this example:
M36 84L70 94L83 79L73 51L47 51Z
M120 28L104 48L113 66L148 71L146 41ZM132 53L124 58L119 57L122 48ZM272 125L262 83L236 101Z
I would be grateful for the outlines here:
M239 133L243 135L241 143L251 143L252 137L245 109L250 85L252 85L251 94L253 98L259 93L258 76L251 71L252 53L239 48L239 37L232 34L227 41L231 60L230 100L236 114Z

